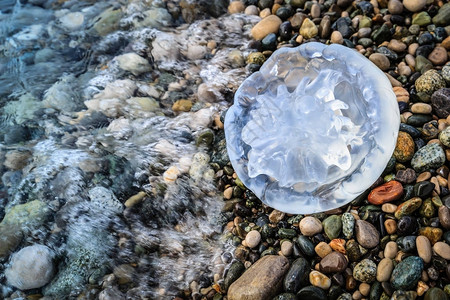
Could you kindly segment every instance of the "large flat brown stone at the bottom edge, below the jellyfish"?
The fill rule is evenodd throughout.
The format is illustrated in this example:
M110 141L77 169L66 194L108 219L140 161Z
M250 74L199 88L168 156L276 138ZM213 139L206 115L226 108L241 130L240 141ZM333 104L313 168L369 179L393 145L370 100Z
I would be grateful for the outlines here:
M228 300L272 299L280 291L288 269L286 257L264 256L230 286Z

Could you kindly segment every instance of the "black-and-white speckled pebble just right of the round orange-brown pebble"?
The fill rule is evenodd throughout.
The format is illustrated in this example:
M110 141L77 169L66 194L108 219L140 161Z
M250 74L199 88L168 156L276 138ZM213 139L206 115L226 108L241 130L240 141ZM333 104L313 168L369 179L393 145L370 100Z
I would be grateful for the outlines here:
M419 173L429 169L439 168L444 163L444 150L436 143L428 144L420 148L411 160L411 166Z

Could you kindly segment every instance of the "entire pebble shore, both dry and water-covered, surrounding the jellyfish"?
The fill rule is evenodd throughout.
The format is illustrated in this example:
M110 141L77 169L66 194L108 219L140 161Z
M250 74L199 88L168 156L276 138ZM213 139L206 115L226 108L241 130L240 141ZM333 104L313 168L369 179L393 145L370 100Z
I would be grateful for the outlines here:
M0 6L1 299L450 298L447 1ZM313 41L382 70L401 125L365 193L292 215L237 177L224 118Z

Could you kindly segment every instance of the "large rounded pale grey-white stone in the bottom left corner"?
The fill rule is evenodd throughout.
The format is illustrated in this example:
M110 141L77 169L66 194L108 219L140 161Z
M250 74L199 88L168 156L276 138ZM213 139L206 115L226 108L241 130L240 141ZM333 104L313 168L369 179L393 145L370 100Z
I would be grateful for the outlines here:
M9 284L20 290L40 288L53 277L53 251L47 246L28 246L13 254L5 271Z

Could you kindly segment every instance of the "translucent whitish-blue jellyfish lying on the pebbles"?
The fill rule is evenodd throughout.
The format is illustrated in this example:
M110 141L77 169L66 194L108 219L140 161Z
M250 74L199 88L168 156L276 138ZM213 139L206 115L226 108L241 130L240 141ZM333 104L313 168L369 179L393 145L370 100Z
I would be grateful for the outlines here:
M239 87L225 118L230 161L267 205L340 207L383 172L399 110L382 71L355 50L307 43L275 51Z

